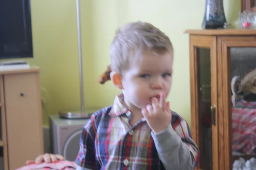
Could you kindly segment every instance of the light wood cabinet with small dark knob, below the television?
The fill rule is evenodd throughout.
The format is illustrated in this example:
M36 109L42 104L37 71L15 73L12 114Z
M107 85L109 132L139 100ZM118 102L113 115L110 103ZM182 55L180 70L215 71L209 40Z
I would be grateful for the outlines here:
M0 72L4 169L13 170L43 154L40 69Z

